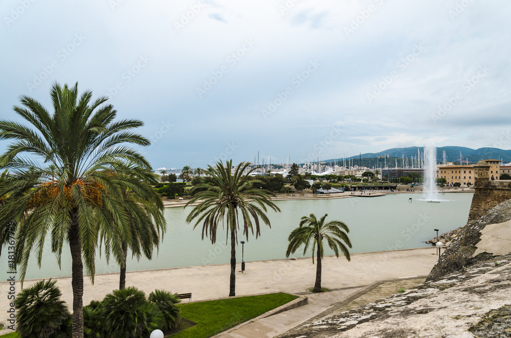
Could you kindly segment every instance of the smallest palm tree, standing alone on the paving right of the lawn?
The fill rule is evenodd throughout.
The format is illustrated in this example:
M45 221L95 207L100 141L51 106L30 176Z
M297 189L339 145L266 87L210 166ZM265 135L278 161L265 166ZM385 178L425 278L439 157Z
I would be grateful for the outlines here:
M316 282L314 284L314 292L321 292L321 259L323 258L323 238L327 239L328 246L334 250L337 258L339 257L339 249L344 254L347 260L350 260L350 252L339 240L341 239L348 247L352 247L350 238L347 232L350 232L347 225L341 221L329 221L325 223L328 214L317 220L316 216L311 213L308 217L303 216L300 221L300 226L289 234L288 249L286 257L294 253L302 244L305 245L304 255L309 248L312 239L312 263L314 263L314 249L316 248L317 262L316 262ZM344 232L344 231L345 232ZM339 238L339 239L338 239Z

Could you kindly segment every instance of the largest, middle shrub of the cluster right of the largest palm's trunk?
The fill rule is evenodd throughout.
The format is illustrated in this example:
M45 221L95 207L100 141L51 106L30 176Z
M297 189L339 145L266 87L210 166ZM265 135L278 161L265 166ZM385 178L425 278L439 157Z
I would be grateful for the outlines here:
M135 287L114 290L102 303L103 327L109 338L148 337L165 324L156 304Z

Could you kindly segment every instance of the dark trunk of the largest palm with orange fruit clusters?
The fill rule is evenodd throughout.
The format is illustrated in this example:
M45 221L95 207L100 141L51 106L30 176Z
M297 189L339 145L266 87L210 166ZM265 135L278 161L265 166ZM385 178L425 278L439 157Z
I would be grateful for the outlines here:
M73 288L73 338L83 338L83 263L82 246L78 230L78 216L74 212L68 232L71 249Z

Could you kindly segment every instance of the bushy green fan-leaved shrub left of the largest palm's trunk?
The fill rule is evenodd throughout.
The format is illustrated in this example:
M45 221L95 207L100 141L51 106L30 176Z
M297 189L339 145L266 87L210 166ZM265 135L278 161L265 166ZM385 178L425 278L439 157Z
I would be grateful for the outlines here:
M21 338L65 338L71 336L71 314L56 281L40 281L23 289L14 300L16 331Z

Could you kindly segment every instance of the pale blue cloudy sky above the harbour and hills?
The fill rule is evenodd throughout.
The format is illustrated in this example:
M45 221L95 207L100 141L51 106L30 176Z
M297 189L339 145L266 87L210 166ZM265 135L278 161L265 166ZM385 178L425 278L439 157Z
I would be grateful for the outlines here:
M510 149L509 17L505 0L2 0L0 118L78 82L143 120L154 168Z

